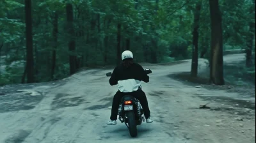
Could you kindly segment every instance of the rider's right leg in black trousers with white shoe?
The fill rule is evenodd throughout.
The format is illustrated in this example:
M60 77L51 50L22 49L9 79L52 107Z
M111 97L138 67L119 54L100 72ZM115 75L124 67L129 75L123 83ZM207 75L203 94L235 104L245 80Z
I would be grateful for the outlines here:
M153 121L152 119L150 119L150 110L148 107L148 100L147 100L146 94L139 89L138 91L134 92L133 96L134 98L137 98L138 100L140 100L147 123L152 123Z

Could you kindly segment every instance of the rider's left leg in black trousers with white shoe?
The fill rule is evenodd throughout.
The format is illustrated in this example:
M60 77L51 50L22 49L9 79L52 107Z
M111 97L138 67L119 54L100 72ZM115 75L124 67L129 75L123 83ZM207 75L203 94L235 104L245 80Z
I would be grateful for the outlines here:
M113 98L112 102L112 109L111 109L111 116L110 120L107 124L112 125L116 124L116 119L117 119L117 114L118 114L118 108L119 108L119 103L122 100L122 93L118 90Z

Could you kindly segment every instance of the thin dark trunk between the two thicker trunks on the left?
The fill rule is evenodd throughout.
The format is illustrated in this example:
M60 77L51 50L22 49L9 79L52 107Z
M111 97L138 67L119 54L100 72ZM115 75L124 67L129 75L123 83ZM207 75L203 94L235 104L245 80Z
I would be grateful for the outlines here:
M54 72L56 66L56 49L58 45L58 13L54 12L54 20L53 20L53 49L52 49L52 67L51 67L51 79L54 79Z

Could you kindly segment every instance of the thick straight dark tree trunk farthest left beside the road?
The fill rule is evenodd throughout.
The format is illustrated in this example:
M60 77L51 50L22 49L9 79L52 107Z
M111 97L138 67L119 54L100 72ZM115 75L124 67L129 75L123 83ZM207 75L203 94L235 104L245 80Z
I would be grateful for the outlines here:
M32 33L32 13L31 0L25 0L26 15L26 63L27 63L27 81L34 82L34 57L33 57L33 33Z

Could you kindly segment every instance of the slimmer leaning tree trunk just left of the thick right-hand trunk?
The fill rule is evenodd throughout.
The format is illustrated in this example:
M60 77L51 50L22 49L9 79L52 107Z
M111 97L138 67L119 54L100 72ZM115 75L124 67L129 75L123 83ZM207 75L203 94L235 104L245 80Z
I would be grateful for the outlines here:
M202 1L196 3L196 9L194 14L194 29L193 29L193 48L192 48L192 63L191 63L191 76L197 77L198 70L198 38L199 33L198 29L200 27L200 10L201 10Z

